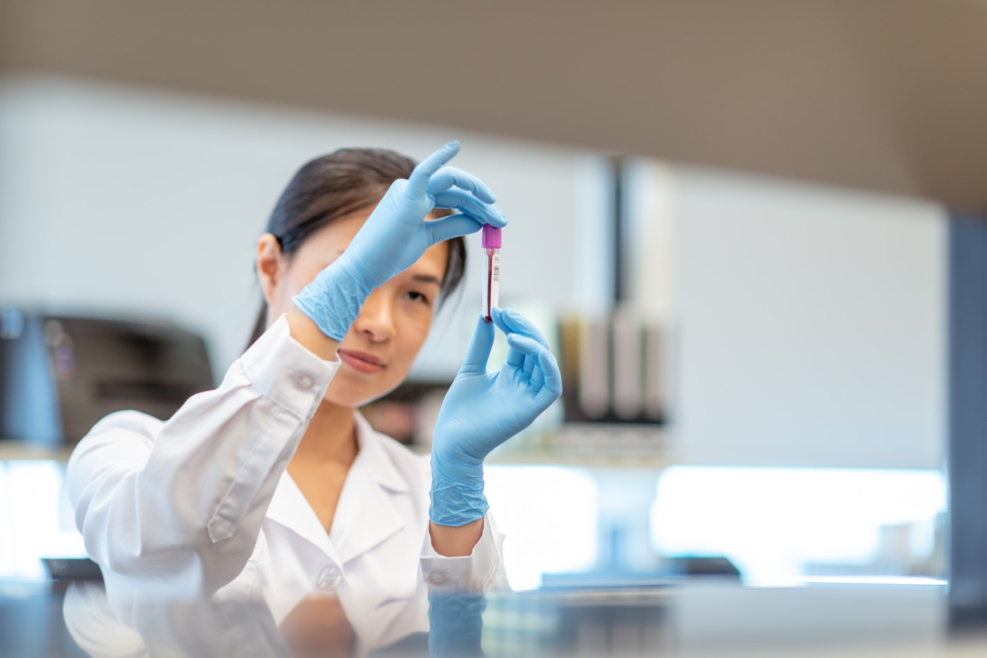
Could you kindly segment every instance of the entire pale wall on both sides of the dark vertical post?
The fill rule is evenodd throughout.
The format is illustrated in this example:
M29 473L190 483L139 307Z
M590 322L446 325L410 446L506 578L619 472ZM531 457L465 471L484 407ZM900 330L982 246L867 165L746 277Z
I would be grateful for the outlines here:
M456 165L511 218L505 302L605 308L610 198L592 154L51 78L0 84L0 304L169 318L206 335L221 373L259 303L255 240L295 170L341 146L421 158L454 137ZM938 208L653 165L634 177L653 183L634 200L653 214L631 238L656 243L635 252L631 293L681 339L673 439L687 463L941 466ZM469 244L461 304L418 377L450 376L465 349L481 278Z

